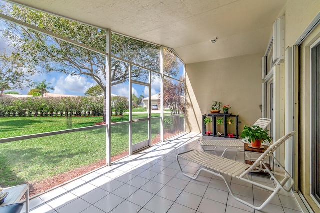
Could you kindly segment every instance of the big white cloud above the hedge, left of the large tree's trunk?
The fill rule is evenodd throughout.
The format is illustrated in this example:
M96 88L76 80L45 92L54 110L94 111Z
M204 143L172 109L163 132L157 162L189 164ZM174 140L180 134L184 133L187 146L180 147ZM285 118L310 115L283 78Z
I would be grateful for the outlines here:
M55 80L54 78L51 80ZM68 94L68 95L84 95L88 88L94 86L96 83L88 81L82 76L61 76L55 86L54 93Z

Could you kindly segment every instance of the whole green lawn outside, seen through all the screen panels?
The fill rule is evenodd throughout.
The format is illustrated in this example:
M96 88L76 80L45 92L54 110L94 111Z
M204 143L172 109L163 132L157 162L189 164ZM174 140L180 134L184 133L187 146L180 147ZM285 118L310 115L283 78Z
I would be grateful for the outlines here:
M122 120L126 118L122 116ZM119 119L121 116L112 116L111 120ZM72 128L101 121L102 117L72 117ZM159 128L159 122L153 122L152 138L159 133ZM65 117L0 118L0 138L63 129L66 129ZM141 123L138 129L133 131L134 140L145 138L143 130L147 129L147 123ZM128 124L111 126L111 156L128 150L128 138ZM35 183L98 162L105 159L105 143L105 128L2 143L0 186Z

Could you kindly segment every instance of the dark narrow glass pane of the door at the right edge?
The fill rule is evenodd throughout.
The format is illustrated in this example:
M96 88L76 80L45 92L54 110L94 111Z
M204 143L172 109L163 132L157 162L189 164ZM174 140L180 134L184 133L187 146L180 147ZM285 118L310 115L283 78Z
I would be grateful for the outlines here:
M320 203L320 43L311 49L312 64L312 144L311 194Z

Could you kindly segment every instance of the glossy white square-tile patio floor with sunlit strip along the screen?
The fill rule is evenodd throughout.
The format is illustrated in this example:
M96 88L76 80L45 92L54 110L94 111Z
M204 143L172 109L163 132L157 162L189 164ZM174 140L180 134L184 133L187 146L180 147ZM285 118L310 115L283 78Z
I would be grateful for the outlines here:
M170 138L138 154L128 156L110 167L87 174L30 200L31 213L299 213L292 193L280 192L263 211L254 210L236 200L225 183L209 173L198 180L182 175L176 154L200 150L197 133ZM212 151L222 154L223 149ZM225 157L244 160L243 152L229 150ZM181 161L190 173L198 165ZM274 185L256 175L252 179ZM269 192L229 178L231 188L242 199L259 205ZM24 210L25 211L25 210ZM24 212L22 211L22 212Z

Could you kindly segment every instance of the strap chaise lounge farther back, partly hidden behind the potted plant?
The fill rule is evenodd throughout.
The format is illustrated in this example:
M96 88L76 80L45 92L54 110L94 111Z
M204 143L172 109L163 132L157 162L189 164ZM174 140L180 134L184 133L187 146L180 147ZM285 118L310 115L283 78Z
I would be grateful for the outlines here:
M266 129L266 127L271 123L271 119L269 118L259 118L252 126L259 126L262 129ZM199 139L198 143L200 144L202 150L206 151L214 151L217 147L226 147L221 156L224 155L225 151L228 149L242 149L243 143L245 143L245 138L240 140L207 140L207 139ZM270 144L268 144L270 145ZM213 147L213 148L210 148Z

